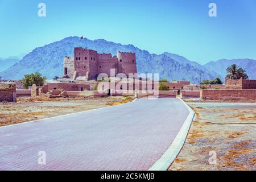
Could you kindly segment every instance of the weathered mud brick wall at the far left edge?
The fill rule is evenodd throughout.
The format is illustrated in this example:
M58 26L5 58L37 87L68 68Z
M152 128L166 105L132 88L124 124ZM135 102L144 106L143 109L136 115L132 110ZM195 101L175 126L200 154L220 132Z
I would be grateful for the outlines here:
M16 102L16 84L0 83L0 102Z

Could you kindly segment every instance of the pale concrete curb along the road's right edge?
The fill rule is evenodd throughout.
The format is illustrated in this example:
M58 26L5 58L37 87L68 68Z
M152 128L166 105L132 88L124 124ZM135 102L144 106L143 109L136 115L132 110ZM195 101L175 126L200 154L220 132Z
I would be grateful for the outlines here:
M181 98L179 98L181 100ZM183 147L185 140L188 135L188 131L191 126L191 122L195 117L195 112L187 105L183 100L181 100L183 104L187 107L189 114L185 119L183 125L180 128L180 131L177 133L174 141L171 146L167 149L166 152L158 159L149 169L148 171L166 171L171 164L174 162L174 159L179 154L181 148Z

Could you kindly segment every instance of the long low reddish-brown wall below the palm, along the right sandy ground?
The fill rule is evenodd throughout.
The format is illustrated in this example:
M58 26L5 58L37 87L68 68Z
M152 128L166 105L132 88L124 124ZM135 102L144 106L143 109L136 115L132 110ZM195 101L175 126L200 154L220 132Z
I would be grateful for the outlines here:
M201 90L202 100L255 101L256 90Z

